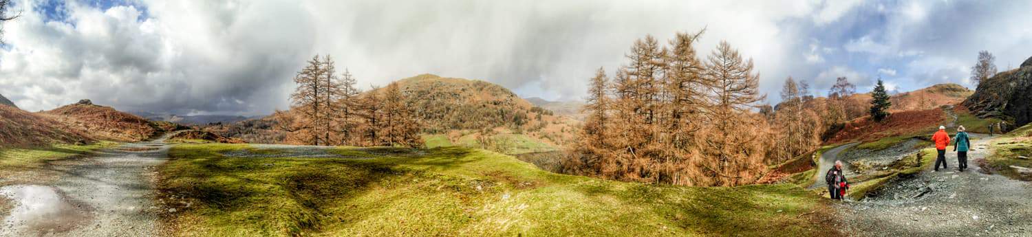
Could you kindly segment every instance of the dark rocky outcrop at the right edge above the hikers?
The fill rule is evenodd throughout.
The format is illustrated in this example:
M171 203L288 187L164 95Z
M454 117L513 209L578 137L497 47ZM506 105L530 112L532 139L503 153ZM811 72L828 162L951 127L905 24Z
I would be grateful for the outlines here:
M1032 58L1019 69L982 80L963 105L979 117L1006 121L1005 130L1032 122Z

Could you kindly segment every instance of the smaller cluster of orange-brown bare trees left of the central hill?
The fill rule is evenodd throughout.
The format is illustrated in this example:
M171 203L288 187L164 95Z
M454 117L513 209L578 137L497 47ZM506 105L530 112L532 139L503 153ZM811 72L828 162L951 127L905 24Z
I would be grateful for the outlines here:
M311 145L419 146L422 131L411 98L397 82L362 93L355 77L336 74L329 56L315 56L294 76L290 111L277 111L287 140Z

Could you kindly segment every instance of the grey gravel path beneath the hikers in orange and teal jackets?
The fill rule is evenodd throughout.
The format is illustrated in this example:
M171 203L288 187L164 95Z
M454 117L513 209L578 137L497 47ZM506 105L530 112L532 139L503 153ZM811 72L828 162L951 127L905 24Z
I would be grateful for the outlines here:
M889 183L863 202L840 205L845 233L856 236L1032 236L1032 187L985 174L979 160L991 155L991 139L972 142L968 167L957 172L957 154L946 155L948 169L926 170Z

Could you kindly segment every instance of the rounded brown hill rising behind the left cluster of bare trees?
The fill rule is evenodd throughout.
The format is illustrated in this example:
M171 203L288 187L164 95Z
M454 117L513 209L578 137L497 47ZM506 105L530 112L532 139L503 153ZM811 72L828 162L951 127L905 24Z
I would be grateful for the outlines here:
M431 147L475 146L508 154L555 150L573 139L580 123L483 80L421 74L397 82L418 108L424 140ZM286 136L276 127L268 116L209 126L205 131L249 142L284 143Z

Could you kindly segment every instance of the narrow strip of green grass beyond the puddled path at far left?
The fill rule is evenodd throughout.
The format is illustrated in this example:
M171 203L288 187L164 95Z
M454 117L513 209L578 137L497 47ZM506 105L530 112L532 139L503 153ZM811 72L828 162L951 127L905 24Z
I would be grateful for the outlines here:
M84 155L119 144L119 142L112 141L98 141L88 145L52 144L31 148L0 148L0 169L37 168L49 161Z

